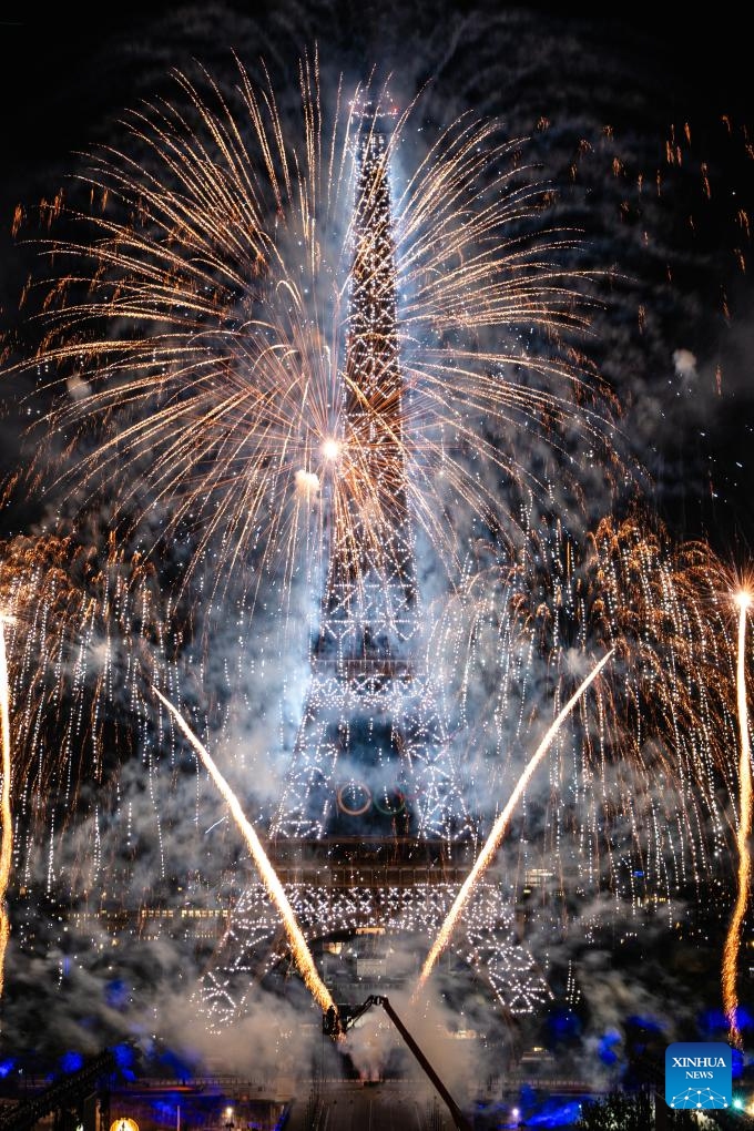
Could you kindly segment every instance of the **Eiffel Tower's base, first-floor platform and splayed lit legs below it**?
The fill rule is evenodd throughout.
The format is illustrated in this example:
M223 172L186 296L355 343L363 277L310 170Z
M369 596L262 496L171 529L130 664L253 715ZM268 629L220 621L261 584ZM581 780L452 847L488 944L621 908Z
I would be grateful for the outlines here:
M288 840L269 854L320 975L339 1002L410 993L421 966L476 857L473 844ZM506 1015L538 1011L545 974L523 939L513 897L483 878L433 978L471 979ZM276 908L251 882L231 912L202 981L213 1027L254 1007L260 984L297 977Z

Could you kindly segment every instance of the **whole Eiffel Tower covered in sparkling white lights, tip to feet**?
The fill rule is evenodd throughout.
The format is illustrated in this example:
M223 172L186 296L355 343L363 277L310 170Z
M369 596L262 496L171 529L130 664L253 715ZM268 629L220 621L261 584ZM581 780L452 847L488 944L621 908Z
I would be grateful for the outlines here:
M401 951L418 964L478 848L447 725L417 657L390 116L379 106L365 107L357 147L339 478L326 498L329 554L309 694L266 844L341 1001L362 1000L370 978L382 991L415 978L418 965L391 968L390 940L402 940ZM549 996L495 880L477 886L451 951L449 960L482 976L506 1015L530 1013ZM287 960L277 914L262 884L251 883L202 981L218 1030L250 1007L259 978Z

